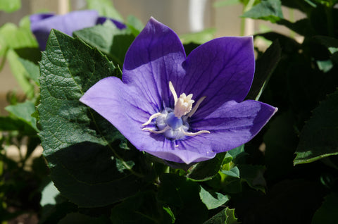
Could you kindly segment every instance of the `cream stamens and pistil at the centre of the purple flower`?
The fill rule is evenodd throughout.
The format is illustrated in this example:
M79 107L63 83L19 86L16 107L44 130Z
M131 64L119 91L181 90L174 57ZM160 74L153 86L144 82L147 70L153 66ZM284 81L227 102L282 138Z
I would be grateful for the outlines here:
M200 130L198 132L188 132L189 123L188 118L191 117L201 104L201 102L206 99L206 97L201 97L199 101L196 102L194 108L194 100L192 100L192 94L186 95L182 93L180 98L177 98L175 88L173 83L169 82L170 92L173 94L175 107L165 108L163 111L154 113L150 116L149 120L142 125L149 125L151 121L156 118L156 127L158 130L152 130L151 128L144 127L142 130L152 132L154 134L161 134L168 139L183 139L186 136L196 136L201 134L210 133L208 130Z

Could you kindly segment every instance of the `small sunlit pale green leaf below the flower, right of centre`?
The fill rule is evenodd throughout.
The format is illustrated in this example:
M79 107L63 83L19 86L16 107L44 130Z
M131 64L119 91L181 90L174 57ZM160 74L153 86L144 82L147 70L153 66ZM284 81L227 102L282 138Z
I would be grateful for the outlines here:
M218 192L208 192L203 187L201 187L199 197L201 197L201 200L209 210L216 209L230 200L230 197L228 197L227 195Z

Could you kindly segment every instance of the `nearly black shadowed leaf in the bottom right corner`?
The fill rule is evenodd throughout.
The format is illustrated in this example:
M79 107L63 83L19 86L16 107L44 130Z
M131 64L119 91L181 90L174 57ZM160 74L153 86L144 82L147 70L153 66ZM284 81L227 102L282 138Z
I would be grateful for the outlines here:
M323 205L318 209L313 218L312 224L335 224L338 223L338 194L332 193L325 197Z

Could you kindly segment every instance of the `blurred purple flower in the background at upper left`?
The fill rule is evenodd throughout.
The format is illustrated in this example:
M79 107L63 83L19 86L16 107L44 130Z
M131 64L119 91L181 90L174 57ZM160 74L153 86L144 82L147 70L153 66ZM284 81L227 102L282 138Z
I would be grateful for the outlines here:
M46 49L46 42L51 29L60 30L67 35L72 35L74 31L97 24L103 24L107 18L99 17L93 10L73 11L65 15L54 15L54 13L40 13L30 15L30 29L37 38L40 49ZM126 26L116 20L110 19L116 27L124 29Z

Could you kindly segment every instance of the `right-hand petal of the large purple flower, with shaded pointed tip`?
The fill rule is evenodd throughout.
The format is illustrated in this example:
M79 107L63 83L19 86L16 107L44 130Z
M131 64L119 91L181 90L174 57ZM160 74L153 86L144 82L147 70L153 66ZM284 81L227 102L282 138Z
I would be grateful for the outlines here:
M218 153L249 142L276 111L277 108L259 101L229 101L204 118L192 116L190 127L210 131L204 135L205 142L210 142Z

